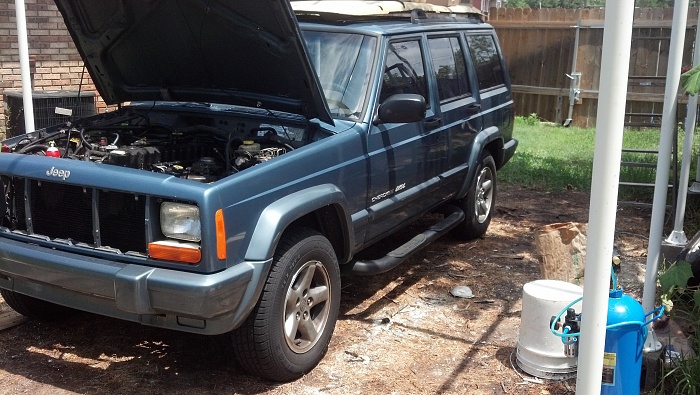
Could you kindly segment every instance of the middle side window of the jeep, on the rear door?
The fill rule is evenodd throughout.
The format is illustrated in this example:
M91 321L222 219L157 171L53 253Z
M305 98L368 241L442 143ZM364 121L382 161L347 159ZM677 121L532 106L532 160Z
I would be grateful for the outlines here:
M470 94L464 52L458 37L440 37L428 40L433 60L438 96L444 102Z

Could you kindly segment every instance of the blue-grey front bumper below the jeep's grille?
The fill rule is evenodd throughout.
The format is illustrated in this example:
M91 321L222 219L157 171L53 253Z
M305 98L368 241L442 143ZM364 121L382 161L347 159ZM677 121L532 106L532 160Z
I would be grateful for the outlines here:
M0 288L109 317L215 335L255 305L271 260L214 274L87 257L0 238Z

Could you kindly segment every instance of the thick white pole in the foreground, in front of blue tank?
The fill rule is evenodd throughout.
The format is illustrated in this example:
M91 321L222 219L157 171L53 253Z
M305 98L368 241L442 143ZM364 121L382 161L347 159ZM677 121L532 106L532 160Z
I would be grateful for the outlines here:
M576 394L600 394L634 0L605 7Z

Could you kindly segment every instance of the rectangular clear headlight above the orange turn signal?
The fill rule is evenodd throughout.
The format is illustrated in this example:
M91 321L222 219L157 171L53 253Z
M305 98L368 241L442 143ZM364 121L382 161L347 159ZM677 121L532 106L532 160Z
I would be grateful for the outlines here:
M173 202L161 204L160 230L166 237L199 242L202 240L199 207Z

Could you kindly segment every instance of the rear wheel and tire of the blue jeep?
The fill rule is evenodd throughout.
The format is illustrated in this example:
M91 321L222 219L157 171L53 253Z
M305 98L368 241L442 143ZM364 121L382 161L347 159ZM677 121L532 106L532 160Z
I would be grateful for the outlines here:
M462 240L473 240L483 236L491 224L496 207L496 162L488 152L483 152L467 196L458 205L466 218L452 230Z

